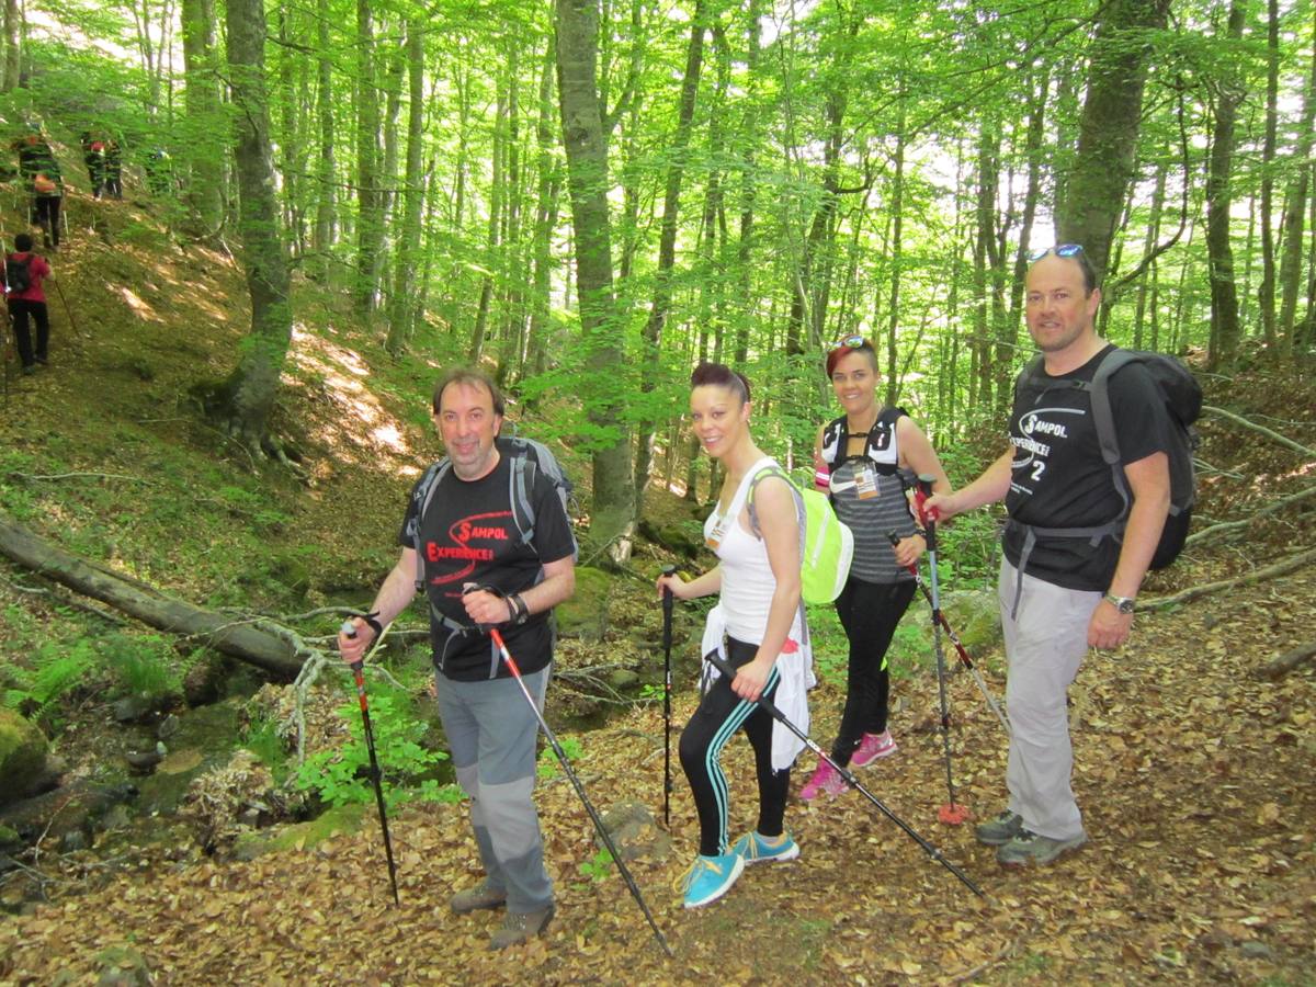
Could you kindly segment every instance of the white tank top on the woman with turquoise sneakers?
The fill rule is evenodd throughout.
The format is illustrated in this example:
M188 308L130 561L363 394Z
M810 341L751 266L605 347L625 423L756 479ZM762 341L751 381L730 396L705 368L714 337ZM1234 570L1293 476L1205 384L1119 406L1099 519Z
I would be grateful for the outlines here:
M736 496L722 515L716 507L704 521L704 540L719 536L717 554L722 566L722 590L719 597L726 616L726 633L749 645L763 642L767 629L767 611L772 605L776 579L767 562L767 545L755 538L740 521L745 509L750 480L776 461L765 455L749 470L736 488Z

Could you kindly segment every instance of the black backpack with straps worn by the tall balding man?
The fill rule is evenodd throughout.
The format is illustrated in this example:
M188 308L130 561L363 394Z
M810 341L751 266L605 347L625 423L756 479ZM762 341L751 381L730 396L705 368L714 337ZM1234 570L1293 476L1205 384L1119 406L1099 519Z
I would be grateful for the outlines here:
M1086 391L1092 399L1092 424L1096 426L1096 438L1101 446L1101 458L1111 467L1111 479L1115 490L1119 491L1124 508L1119 517L1101 525L1100 528L1084 529L1088 537L1104 537L1109 534L1116 540L1124 537L1124 525L1129 520L1129 509L1133 505L1133 495L1129 491L1128 479L1124 476L1124 467L1120 466L1120 442L1115 433L1115 416L1111 413L1109 382L1121 367L1129 363L1141 363L1152 376L1165 411L1170 420L1170 446L1166 454L1170 459L1170 515L1165 520L1161 532L1161 541L1157 544L1149 569L1165 569L1183 551L1183 544L1188 537L1188 525L1192 521L1192 505L1196 500L1198 482L1192 468L1192 453L1198 447L1200 438L1192 424L1202 415L1202 386L1192 372L1174 357L1163 353L1150 353L1146 350L1113 349L1103 359L1092 376L1092 382L1069 382L1069 387ZM1042 372L1042 355L1038 354L1029 362L1015 380L1015 397L1021 395L1029 380L1046 387L1054 387ZM1062 384L1063 386L1063 384ZM1069 529L1076 532L1078 529ZM1042 533L1042 532L1038 532Z

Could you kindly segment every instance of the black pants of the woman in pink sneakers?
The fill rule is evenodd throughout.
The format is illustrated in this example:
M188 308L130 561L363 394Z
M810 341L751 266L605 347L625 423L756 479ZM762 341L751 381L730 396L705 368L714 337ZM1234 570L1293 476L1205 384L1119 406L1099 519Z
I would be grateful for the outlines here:
M887 704L891 697L891 670L887 649L896 633L896 624L909 608L915 583L846 582L836 599L836 613L850 640L850 669L845 684L845 712L841 730L832 745L832 759L849 766L850 755L865 733L887 729Z

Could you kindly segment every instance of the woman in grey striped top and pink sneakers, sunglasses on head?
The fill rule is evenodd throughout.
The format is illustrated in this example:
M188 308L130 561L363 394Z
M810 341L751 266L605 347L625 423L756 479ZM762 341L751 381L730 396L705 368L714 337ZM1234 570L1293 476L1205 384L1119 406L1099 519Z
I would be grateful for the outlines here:
M936 478L933 490L938 494L949 491L950 482L908 413L878 401L878 357L867 340L850 336L836 343L828 353L826 372L845 415L819 429L815 478L854 534L850 578L836 600L850 641L850 662L832 758L841 766L863 767L896 751L887 726L887 647L913 599L908 567L926 547L905 491L920 474ZM899 536L895 546L890 532ZM800 797L809 801L820 792L840 795L845 787L836 769L819 758Z

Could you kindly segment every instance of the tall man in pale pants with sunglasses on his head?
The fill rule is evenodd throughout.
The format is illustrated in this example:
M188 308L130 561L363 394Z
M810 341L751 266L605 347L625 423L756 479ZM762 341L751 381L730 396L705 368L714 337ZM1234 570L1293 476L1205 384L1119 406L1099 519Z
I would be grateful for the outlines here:
M1009 521L1000 566L1012 728L1009 804L978 826L1007 866L1050 863L1087 842L1070 787L1069 686L1088 647L1119 647L1170 507L1169 417L1138 363L1109 380L1120 463L1132 494L1123 538L1092 536L1124 508L1101 457L1086 388L1115 347L1096 334L1101 291L1076 243L1036 255L1025 282L1028 332L1042 351L1036 383L1016 390L1009 450L976 480L926 507L941 519L996 500ZM1107 525L1108 526L1108 525Z

